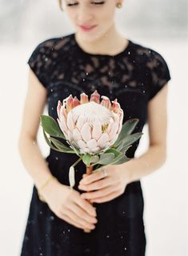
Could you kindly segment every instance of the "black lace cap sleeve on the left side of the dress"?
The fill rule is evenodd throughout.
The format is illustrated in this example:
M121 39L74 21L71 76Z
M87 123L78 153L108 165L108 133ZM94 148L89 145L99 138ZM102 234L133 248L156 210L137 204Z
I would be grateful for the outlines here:
M47 88L49 86L50 70L52 69L53 62L51 58L51 50L53 50L52 42L50 39L43 41L35 47L27 61L30 69L33 70L42 86Z

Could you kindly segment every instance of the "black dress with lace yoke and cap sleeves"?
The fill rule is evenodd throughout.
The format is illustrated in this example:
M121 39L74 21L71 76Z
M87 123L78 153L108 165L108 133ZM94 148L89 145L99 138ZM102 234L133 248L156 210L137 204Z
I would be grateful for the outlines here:
M75 34L50 38L34 49L28 63L47 90L49 115L56 119L56 106L73 94L90 95L98 90L110 100L118 98L125 122L139 118L134 132L147 122L147 103L170 80L166 61L158 52L129 40L121 53L89 54L75 40ZM42 129L42 127L41 127ZM144 135L142 135L144 136ZM139 140L127 151L134 158ZM51 150L46 157L51 173L62 184L70 185L69 167L78 157ZM75 190L85 166L76 168ZM38 170L39 171L39 170ZM58 218L38 198L36 187L30 202L22 256L143 256L146 234L143 222L143 197L140 181L126 186L124 194L110 202L94 203L98 223L89 234Z

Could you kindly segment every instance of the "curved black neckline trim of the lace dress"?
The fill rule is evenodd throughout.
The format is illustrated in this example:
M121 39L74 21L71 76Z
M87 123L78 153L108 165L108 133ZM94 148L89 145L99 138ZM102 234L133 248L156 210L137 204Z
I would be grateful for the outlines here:
M126 53L129 52L129 50L130 50L130 45L131 45L131 43L132 43L132 41L130 41L130 39L126 39L126 38L125 38L126 40L128 40L128 44L126 45L126 47L124 48L124 50L122 50L122 51L119 52L118 54L112 54L112 55L110 55L110 54L91 54L91 53L88 53L88 52L86 52L85 50L83 50L82 47L78 45L78 42L76 41L76 38L75 38L75 33L71 34L71 36L72 36L72 39L74 40L74 45L77 46L78 50L79 50L80 52L82 52L82 54L86 54L86 55L88 55L88 56L94 56L94 57L118 58L118 57L120 57L120 56L122 56L122 55L125 55Z

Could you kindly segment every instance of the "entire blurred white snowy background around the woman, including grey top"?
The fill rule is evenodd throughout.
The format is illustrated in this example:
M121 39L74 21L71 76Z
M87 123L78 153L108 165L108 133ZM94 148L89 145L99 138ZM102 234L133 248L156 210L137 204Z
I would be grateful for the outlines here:
M146 256L188 255L188 18L186 0L126 0L116 11L122 34L157 50L172 79L168 93L168 156L164 166L142 178L145 199ZM0 179L0 254L18 256L29 212L33 181L18 154L18 134L27 90L26 62L46 38L74 32L58 0L0 2L2 153ZM46 110L45 110L46 111ZM136 156L148 146L147 126ZM49 148L38 132L44 157Z

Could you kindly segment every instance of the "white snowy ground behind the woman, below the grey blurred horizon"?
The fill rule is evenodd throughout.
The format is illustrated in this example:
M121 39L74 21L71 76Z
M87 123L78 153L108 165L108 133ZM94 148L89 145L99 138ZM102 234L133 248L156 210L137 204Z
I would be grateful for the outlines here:
M145 198L146 256L186 256L187 249L187 42L140 42L158 50L170 68L172 80L168 96L168 158L162 168L142 178ZM34 46L1 46L2 158L0 179L0 254L18 256L30 206L33 182L18 155L18 134L27 89L27 65ZM144 132L147 132L145 126ZM38 133L44 157L49 149ZM136 152L146 150L147 136Z

